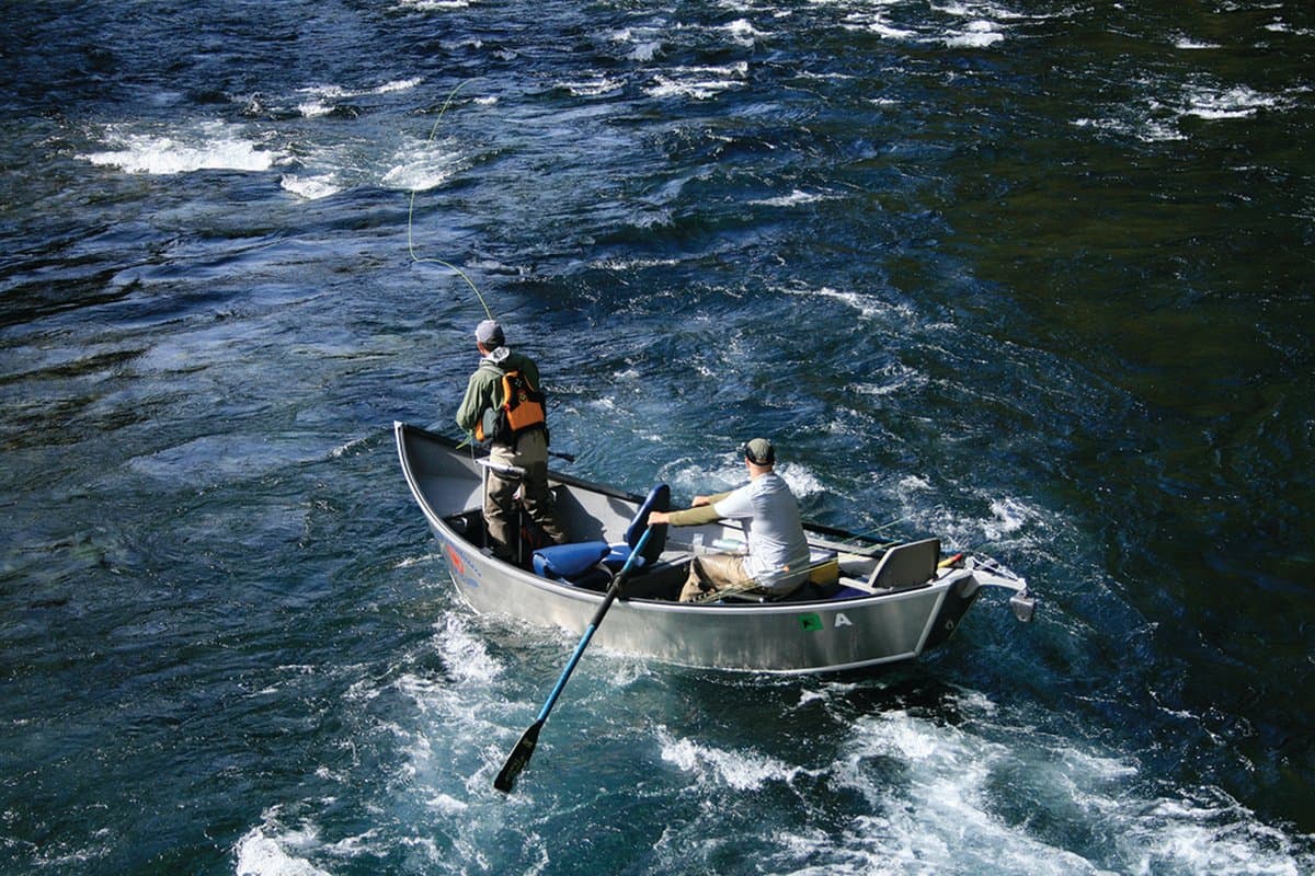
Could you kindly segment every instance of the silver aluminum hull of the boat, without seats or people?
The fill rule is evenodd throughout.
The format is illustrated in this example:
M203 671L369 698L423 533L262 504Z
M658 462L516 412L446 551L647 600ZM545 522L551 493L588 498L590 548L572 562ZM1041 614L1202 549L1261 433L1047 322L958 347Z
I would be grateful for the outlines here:
M604 594L542 578L481 549L479 508L483 469L469 448L404 423L394 424L406 483L442 545L460 598L476 612L501 613L580 633ZM552 473L559 517L572 538L619 540L640 496ZM734 527L702 528L705 542L736 535ZM673 531L686 536L688 532ZM867 575L886 545L832 529L807 527L818 550L836 552L843 580ZM663 553L672 574L643 575L623 591L594 644L681 666L781 674L809 674L915 659L943 644L977 600L981 586L1001 584L1001 570L955 567L924 584L849 598L803 598L714 604L673 602L672 580L682 578L689 546L668 541ZM970 563L969 563L970 565ZM981 580L982 577L993 580ZM679 580L677 580L679 583ZM1026 595L1022 579L1005 586ZM817 591L818 588L810 588ZM831 590L835 590L832 586ZM819 591L821 592L821 591Z

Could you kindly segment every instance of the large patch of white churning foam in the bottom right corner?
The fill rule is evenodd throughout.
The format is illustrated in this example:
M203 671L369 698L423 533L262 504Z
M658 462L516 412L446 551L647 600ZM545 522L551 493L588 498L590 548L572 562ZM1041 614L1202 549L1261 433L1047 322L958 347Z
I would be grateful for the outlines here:
M982 693L953 699L961 716L955 725L902 711L855 722L830 780L861 792L880 814L844 838L847 859L871 854L882 862L876 872L1056 875L1297 876L1310 863L1291 837L1258 822L1218 788L1141 796L1145 781L1135 758L1020 732L1018 716L1001 725L999 709ZM890 783L873 768L881 762L898 764L901 780ZM1019 780L1024 796L1044 793L1047 809L1070 812L1086 830L1109 837L1097 846L1099 859L1047 842L1027 820L1002 817L1018 808Z

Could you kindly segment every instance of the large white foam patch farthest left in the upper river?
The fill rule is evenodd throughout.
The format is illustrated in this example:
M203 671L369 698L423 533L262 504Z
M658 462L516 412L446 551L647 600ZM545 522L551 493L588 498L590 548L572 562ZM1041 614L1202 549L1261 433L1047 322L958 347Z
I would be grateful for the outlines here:
M262 148L245 129L225 122L204 122L164 133L134 133L112 126L105 131L105 141L110 148L79 158L128 173L160 176L195 171L258 172L285 159L281 152Z

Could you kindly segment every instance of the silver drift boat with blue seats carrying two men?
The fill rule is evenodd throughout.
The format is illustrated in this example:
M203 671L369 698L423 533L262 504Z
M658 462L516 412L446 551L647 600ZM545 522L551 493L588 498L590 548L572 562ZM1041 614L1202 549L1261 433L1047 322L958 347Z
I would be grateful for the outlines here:
M484 546L487 456L405 423L393 431L412 495L442 544L456 591L476 612L579 632L640 546L596 636L623 654L719 670L828 672L917 659L951 637L982 587L1011 591L1020 621L1035 608L1027 582L989 558L943 557L936 538L886 544L815 524L805 524L810 580L794 594L680 603L694 553L735 550L744 540L740 525L672 528L681 541L668 537L668 527L652 527L640 544L648 511L667 507L664 485L638 496L558 471L548 483L571 544L522 545L518 562L505 562Z

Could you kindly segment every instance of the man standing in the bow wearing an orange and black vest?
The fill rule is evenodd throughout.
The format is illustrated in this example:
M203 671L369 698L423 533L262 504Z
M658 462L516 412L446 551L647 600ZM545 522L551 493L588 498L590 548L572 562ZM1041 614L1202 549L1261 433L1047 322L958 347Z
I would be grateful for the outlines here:
M467 435L489 443L494 466L517 466L515 479L488 469L484 494L484 525L493 556L515 561L519 532L515 531L515 490L523 487L521 504L554 542L565 541L558 525L548 491L548 423L539 368L534 360L506 347L502 327L485 319L475 328L480 364L466 385L466 398L456 411L456 424Z

